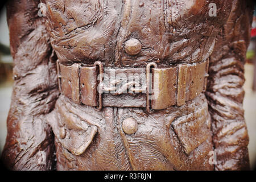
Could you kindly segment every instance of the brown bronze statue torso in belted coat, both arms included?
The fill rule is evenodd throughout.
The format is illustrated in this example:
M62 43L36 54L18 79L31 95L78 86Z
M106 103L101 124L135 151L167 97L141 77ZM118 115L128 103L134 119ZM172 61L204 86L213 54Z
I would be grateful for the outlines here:
M252 16L243 0L9 1L15 81L3 162L249 169L242 86Z

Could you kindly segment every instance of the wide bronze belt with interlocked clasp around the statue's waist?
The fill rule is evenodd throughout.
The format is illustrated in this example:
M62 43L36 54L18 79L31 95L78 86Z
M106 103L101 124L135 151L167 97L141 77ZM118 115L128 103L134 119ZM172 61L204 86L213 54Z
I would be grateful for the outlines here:
M181 106L204 92L209 60L158 68L104 68L63 65L57 60L59 90L76 104L97 107L146 107L152 110Z

